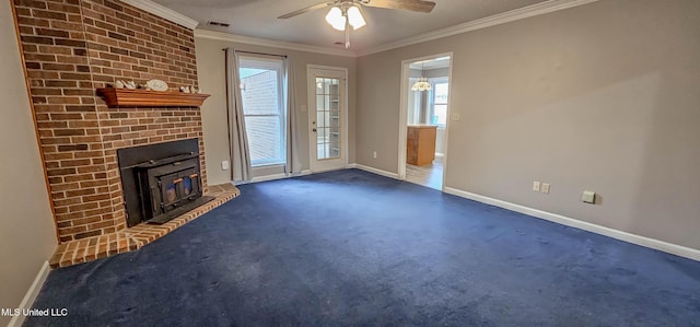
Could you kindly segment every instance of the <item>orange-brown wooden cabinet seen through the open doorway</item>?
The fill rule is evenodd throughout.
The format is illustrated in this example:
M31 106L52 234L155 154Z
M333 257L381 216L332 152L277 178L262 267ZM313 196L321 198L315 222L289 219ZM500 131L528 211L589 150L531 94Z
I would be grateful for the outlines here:
M430 165L435 160L438 126L409 125L406 163L416 166Z

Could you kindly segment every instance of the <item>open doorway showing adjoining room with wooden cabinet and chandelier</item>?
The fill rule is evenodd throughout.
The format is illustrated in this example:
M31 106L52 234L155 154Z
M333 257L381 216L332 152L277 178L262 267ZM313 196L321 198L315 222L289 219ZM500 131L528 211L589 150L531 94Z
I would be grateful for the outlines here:
M452 54L402 61L399 177L442 190Z

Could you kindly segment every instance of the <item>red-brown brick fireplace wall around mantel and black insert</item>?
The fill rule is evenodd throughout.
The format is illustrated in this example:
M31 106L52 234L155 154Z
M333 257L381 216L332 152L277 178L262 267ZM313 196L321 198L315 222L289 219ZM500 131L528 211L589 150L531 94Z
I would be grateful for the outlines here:
M199 138L198 107L107 108L116 80L197 85L192 31L119 1L14 0L61 242L126 227L116 150Z

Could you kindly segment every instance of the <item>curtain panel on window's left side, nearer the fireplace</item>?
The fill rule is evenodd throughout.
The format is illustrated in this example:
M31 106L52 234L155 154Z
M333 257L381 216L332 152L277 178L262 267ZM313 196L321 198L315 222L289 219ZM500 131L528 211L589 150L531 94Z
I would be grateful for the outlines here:
M238 56L226 48L226 109L229 116L229 141L231 144L231 179L234 183L250 180L250 150L245 132L243 97L241 96Z

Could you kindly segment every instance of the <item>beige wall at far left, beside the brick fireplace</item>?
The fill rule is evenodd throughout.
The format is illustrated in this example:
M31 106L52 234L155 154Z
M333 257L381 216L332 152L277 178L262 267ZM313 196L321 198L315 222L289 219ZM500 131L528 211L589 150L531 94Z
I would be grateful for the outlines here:
M10 1L0 2L0 307L9 308L20 305L57 241ZM0 326L9 323L0 316Z

